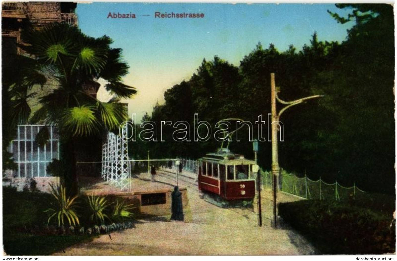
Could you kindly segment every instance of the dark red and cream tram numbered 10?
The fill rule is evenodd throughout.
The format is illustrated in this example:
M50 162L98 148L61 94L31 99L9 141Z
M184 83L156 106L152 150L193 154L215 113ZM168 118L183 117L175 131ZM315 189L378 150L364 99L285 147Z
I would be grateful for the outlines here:
M224 200L252 200L255 196L255 161L228 149L206 154L198 160L198 189Z

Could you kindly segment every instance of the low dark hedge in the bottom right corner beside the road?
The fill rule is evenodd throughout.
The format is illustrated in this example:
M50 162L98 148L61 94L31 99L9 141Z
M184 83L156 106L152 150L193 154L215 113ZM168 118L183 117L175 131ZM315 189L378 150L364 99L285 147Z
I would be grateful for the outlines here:
M279 215L326 254L395 251L390 217L340 202L304 200L279 204Z

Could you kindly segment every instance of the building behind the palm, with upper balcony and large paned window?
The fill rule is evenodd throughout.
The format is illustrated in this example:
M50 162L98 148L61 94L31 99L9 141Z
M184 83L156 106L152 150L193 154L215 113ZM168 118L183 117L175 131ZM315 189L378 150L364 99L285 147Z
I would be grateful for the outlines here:
M68 23L78 25L75 8L72 2L3 2L2 3L2 64L6 66L8 59L15 54L23 52L18 44L23 44L21 31L32 26L40 29L53 23ZM47 85L56 87L56 83L48 82ZM51 86L44 88L51 91ZM97 86L87 86L87 90L94 92ZM40 86L33 86L31 92L44 92ZM44 94L44 93L42 93ZM44 94L45 95L45 94ZM39 96L38 96L39 98ZM39 108L38 98L32 99L29 106L32 111ZM36 135L43 128L48 131L46 144L37 144ZM3 170L3 185L17 187L17 190L35 187L41 191L49 191L48 184L58 185L59 177L52 177L47 172L47 166L53 159L59 159L59 137L56 126L46 125L19 125L16 136L8 146L12 153L16 170Z

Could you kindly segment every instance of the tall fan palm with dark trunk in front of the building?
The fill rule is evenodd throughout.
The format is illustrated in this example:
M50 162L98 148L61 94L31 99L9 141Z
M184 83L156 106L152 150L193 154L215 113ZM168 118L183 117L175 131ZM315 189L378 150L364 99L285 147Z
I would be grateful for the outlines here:
M121 82L128 66L121 61L121 49L110 48L112 39L108 36L89 37L64 23L27 30L22 39L24 44L20 48L30 58L23 57L29 62L23 63L26 66L21 69L22 81L10 85L12 100L19 101L19 106L14 106L13 117L27 118L30 109L26 101L31 98L27 94L34 84L40 83L40 93L45 94L38 99L41 107L30 121L58 125L66 185L69 190L77 191L75 140L98 135L104 129L116 130L126 119L127 112L118 101L137 92ZM83 89L85 84L99 78L107 81L105 88L114 95L110 102L100 102ZM56 84L46 85L43 79Z

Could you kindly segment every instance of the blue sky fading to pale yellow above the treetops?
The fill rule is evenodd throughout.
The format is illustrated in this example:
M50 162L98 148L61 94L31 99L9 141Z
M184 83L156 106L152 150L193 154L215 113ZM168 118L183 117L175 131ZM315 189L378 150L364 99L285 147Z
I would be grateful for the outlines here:
M124 83L138 94L129 114L141 119L164 91L190 79L202 60L214 56L239 62L261 42L279 51L293 44L301 50L316 31L319 40L342 42L353 24L341 25L328 13L345 14L334 4L214 4L105 3L77 4L79 27L89 36L108 35L114 48L123 49L129 64ZM133 13L135 19L108 18L111 13ZM204 13L204 18L155 18L155 12ZM146 16L148 15L148 16ZM98 98L106 99L100 91Z

